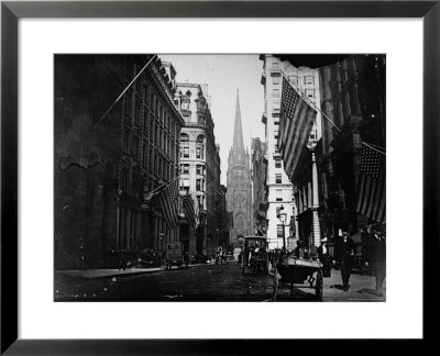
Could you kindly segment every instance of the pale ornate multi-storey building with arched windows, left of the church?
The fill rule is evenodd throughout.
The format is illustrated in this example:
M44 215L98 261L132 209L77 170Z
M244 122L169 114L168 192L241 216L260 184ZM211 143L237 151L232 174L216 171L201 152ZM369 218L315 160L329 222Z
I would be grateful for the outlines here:
M180 196L190 196L199 211L197 230L184 224L182 241L190 254L199 256L218 246L219 220L224 215L220 146L216 144L207 91L207 86L179 82L174 97L185 120L180 134Z

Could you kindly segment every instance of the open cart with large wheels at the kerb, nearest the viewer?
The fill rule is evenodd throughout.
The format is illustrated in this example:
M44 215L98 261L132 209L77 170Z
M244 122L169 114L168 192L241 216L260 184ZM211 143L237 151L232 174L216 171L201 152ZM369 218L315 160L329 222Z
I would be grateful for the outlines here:
M280 277L280 278L279 278ZM322 300L322 264L318 260L293 256L284 257L274 271L274 301L279 289L288 286L290 298L295 298L295 285L315 289L317 300Z

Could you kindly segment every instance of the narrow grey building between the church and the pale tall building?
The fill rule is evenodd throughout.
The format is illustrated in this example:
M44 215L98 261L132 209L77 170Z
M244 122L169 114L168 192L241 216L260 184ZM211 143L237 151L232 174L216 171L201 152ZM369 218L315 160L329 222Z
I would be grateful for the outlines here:
M252 138L252 186L255 234L266 236L267 220L267 157L266 143Z

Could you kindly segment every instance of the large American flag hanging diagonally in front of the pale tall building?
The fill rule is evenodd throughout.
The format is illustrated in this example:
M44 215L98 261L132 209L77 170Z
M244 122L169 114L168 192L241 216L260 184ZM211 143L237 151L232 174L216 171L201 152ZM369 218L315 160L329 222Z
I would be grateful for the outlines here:
M292 177L307 144L317 112L283 76L278 147L286 174Z

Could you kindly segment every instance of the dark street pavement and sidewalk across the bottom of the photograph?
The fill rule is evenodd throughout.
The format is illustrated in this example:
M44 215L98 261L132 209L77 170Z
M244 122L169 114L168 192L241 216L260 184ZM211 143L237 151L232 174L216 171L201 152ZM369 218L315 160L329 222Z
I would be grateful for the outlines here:
M94 270L55 274L55 301L272 301L274 291L272 275L254 276L248 269L242 275L237 262L102 275ZM323 301L385 300L374 292L371 276L352 275L350 283L350 291L342 291L340 271L333 270L324 279ZM296 286L294 301L315 301L315 289L305 287ZM277 301L292 301L287 286L278 289Z

